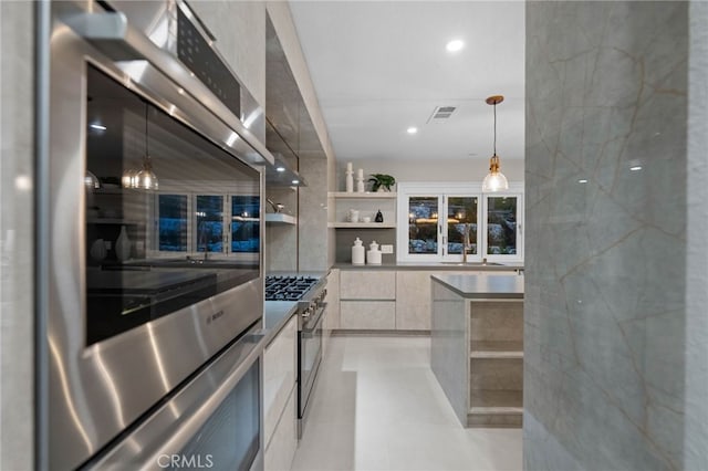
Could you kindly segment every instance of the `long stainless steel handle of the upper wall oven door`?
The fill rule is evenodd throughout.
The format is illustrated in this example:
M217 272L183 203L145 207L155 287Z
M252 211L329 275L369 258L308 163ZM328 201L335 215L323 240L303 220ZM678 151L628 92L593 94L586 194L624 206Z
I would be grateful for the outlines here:
M62 18L62 21L76 34L91 43L98 51L113 61L147 61L152 66L169 77L192 96L207 96L206 107L219 116L243 140L246 140L259 156L253 159L260 164L274 165L274 157L253 134L243 126L238 116L217 98L214 93L195 76L186 66L173 55L162 50L148 36L133 28L122 12L73 13ZM136 78L139 82L139 78ZM253 161L258 164L257 161Z

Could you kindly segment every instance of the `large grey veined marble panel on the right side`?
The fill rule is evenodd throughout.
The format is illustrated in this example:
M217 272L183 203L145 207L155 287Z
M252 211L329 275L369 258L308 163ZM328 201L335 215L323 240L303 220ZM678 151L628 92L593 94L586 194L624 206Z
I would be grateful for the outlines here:
M527 469L683 468L688 4L528 3Z

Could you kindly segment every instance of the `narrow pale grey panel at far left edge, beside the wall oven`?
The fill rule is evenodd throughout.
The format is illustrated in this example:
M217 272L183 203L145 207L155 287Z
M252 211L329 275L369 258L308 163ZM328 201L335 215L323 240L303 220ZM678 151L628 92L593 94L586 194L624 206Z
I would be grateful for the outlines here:
M34 4L0 2L0 469L33 469Z

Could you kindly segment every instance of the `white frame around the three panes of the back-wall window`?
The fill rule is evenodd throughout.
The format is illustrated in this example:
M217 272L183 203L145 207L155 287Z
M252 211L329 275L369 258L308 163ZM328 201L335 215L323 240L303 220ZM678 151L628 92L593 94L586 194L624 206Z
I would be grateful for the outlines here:
M397 262L461 262L462 254L447 253L448 224L447 210L449 198L469 197L477 198L477 247L478 253L468 254L467 261L481 263L485 259L493 263L519 263L523 262L523 197L524 187L522 182L510 182L509 189L504 191L482 192L480 184L467 182L399 182L397 185L397 224L396 224L396 251ZM438 198L438 251L436 254L408 253L408 214L409 199L412 197L437 197ZM517 253L514 254L487 254L488 242L488 198L516 197L517 198ZM444 243L445 242L445 243Z

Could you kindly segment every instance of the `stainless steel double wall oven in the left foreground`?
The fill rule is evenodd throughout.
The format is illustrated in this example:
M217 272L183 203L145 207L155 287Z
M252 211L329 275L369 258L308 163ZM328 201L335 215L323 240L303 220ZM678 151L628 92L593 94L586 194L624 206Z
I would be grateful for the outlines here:
M183 1L51 9L40 468L259 468L262 108Z

